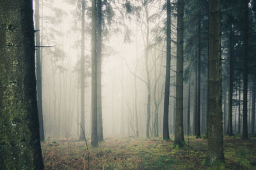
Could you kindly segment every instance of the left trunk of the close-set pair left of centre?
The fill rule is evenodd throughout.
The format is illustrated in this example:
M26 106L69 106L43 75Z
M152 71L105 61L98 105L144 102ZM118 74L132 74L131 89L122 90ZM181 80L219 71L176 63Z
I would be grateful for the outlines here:
M98 145L97 132L97 10L92 0L92 146Z

